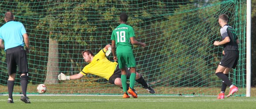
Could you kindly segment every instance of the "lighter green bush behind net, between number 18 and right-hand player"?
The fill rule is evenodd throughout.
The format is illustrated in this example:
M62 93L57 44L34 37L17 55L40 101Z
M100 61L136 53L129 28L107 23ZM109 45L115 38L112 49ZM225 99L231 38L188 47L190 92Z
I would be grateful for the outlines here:
M166 17L168 20L153 25L154 28L161 27L162 30L162 35L152 41L160 44L156 46L162 46L161 49L153 51L157 54L153 57L159 56L157 66L161 73L158 76L161 75L160 78L167 80L161 84L202 86L211 81L207 80L212 79L207 75L211 77L214 74L215 69L212 66L216 66L218 60L215 60L217 57L214 56L214 51L210 50L212 47L203 45L209 45L216 39L218 24L215 17L207 13L217 13L215 9L220 6L200 9L201 5L181 5L173 15ZM210 28L211 24L216 27Z

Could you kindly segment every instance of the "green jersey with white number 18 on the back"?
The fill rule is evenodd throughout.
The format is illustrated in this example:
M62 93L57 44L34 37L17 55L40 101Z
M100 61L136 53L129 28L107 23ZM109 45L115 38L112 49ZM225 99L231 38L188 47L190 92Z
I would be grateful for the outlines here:
M120 24L114 29L111 35L111 40L115 40L117 53L133 53L130 38L134 37L134 30L131 26Z

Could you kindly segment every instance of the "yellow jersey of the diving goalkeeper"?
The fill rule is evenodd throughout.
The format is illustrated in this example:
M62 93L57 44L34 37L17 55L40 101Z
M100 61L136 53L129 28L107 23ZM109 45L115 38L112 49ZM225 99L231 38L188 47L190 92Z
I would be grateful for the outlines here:
M111 62L106 58L105 51L102 49L98 54L96 54L93 60L83 68L80 72L83 75L94 74L99 77L104 77L109 80L116 70L117 62Z

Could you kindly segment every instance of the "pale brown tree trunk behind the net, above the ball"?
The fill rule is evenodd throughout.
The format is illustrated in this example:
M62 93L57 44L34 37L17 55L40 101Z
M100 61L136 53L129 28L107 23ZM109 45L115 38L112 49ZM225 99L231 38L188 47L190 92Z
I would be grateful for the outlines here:
M52 33L50 33L51 36ZM49 36L49 55L47 63L47 74L45 79L45 84L57 84L59 83L59 52L58 52L58 42L53 40Z

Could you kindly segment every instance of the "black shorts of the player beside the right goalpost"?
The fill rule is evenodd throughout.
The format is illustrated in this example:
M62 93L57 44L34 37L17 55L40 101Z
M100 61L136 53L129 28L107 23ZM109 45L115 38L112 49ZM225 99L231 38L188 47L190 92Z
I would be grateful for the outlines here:
M225 55L222 57L219 65L228 68L236 68L239 58L238 50L227 50Z

